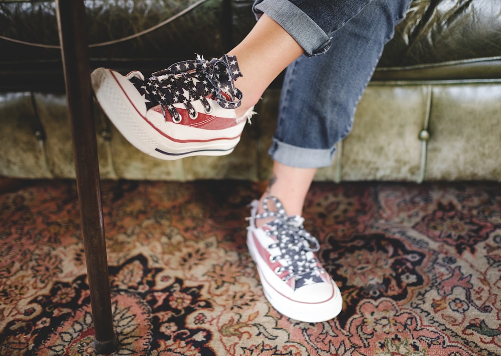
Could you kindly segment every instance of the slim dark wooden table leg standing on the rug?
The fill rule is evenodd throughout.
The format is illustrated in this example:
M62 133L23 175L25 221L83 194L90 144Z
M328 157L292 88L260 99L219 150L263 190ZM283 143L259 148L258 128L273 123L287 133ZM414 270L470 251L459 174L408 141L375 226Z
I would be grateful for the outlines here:
M110 353L118 346L118 340L111 313L85 6L83 0L56 0L56 6L94 321L94 346L97 353Z

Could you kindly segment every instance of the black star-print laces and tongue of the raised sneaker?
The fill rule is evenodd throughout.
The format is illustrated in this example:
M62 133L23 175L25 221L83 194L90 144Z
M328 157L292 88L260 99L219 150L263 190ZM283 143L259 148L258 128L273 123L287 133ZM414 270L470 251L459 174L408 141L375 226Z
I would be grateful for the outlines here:
M200 100L205 113L212 111L206 98L210 94L223 108L240 106L242 93L235 88L234 81L241 76L235 56L224 55L206 61L197 55L194 60L178 62L153 73L145 85L151 93L150 99L161 105L164 116L167 110L172 120L179 123L181 115L174 107L176 103L182 103L192 119L198 115L192 104L195 100Z

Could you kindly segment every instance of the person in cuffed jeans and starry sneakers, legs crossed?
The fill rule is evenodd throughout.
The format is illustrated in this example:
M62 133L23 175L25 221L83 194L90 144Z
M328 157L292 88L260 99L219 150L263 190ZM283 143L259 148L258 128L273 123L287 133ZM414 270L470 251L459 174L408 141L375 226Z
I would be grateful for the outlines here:
M316 169L329 166L410 0L256 0L256 25L221 58L153 73L98 68L95 96L124 137L161 159L230 153L271 82L286 70L273 173L251 203L247 245L264 294L283 315L321 322L342 310L336 283L303 227ZM287 68L287 69L286 69Z

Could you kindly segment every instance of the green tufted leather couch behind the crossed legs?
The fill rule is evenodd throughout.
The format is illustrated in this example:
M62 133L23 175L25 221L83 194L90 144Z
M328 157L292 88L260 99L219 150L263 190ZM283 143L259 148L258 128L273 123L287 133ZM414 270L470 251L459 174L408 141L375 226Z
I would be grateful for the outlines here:
M248 0L86 0L91 68L149 74L219 57L255 23ZM74 177L53 1L0 0L0 176ZM323 181L501 180L501 2L414 1L385 47ZM161 161L97 105L103 179L268 179L280 81L235 151Z

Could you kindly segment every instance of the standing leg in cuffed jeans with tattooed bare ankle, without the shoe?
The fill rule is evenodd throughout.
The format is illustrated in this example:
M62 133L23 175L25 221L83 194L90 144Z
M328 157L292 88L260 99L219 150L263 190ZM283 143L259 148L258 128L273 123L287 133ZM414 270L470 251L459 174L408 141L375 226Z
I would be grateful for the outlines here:
M311 184L307 178L313 179L312 172L332 163L335 145L350 132L358 101L407 6L407 1L374 0L333 34L325 55L302 56L288 67L270 154L289 168L274 165L275 184L266 194L277 194L294 214L302 209L306 195L281 192L291 184L290 174L304 176L303 189L295 188L303 192Z

